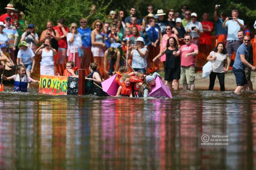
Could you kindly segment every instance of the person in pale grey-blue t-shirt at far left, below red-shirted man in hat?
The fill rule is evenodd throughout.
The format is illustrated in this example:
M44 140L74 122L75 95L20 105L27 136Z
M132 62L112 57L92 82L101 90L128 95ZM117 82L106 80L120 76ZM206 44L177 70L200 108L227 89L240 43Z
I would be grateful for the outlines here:
M11 53L11 59L15 61L15 50L19 34L14 26L11 24L11 17L6 17L6 24L3 31L8 35L8 46Z

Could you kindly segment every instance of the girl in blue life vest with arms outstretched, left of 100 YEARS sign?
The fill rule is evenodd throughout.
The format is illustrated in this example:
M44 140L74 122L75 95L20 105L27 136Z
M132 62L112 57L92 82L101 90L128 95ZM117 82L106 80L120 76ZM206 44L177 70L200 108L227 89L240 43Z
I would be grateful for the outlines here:
M16 68L17 75L6 77L2 74L4 80L14 79L14 91L27 92L28 83L39 83L38 80L32 79L26 74L26 68L24 65L19 64Z

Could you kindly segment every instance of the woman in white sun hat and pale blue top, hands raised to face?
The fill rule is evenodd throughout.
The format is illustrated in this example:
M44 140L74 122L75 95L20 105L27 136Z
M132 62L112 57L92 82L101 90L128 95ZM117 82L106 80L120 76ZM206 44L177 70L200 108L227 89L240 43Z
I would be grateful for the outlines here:
M141 71L143 74L146 74L148 49L144 48L145 42L143 37L138 37L134 42L135 45L129 47L128 53L129 56L132 56L131 67L134 71Z

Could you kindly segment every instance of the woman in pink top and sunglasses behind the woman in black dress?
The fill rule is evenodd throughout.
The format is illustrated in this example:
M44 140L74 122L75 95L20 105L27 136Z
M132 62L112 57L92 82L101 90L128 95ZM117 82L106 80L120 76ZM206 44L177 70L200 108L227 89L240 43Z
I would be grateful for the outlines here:
M179 42L177 35L172 32L172 26L166 26L166 34L163 35L161 40L160 53L164 51L164 48L166 47L167 41L170 37L175 37L176 41ZM163 56L160 57L160 60L161 62L163 62L164 65L164 62L166 61L166 54L163 54Z

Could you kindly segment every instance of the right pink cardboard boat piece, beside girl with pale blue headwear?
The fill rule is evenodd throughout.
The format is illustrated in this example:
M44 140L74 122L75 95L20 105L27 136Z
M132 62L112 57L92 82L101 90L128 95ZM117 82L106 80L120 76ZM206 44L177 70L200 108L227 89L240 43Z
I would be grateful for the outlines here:
M154 98L171 98L172 99L172 94L169 88L164 84L164 82L157 76L156 80L156 85L154 88L152 88L151 92L148 94L150 97Z

